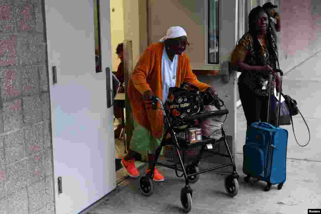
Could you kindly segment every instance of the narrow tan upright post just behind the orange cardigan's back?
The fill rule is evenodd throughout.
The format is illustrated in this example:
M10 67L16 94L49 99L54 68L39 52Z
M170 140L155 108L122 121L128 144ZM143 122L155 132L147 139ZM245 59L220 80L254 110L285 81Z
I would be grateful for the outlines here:
M124 41L124 79L125 79L125 111L126 111L126 144L127 151L129 149L129 142L133 135L134 119L132 108L127 95L127 86L129 84L130 76L133 73L133 48L132 41ZM125 134L124 134L125 137Z

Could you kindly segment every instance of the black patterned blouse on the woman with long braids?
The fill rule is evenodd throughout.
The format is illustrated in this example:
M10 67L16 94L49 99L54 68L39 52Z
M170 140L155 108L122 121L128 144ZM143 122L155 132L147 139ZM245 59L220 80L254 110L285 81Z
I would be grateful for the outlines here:
M273 39L273 45L275 46L275 40ZM260 43L261 44L261 43ZM247 51L250 52L245 58L244 63L248 65L259 65L258 62L256 62L256 56L255 56L255 51L254 51L254 45L253 45L253 38L250 35L249 32L245 33L242 38L239 40L238 45L244 46ZM264 65L269 65L272 69L276 69L276 63L273 63L270 60L270 56L268 51L266 50L266 47L264 47L261 44L261 57ZM261 64L262 65L262 64ZM249 90L253 91L255 94L260 95L260 96L268 96L268 90L270 83L268 82L266 89L262 89L263 84L265 81L269 81L268 76L262 76L262 74L256 72L256 71L240 71L242 72L238 84L245 85L249 88ZM275 88L275 75L273 75L272 78L272 84L271 84L271 91L273 93Z

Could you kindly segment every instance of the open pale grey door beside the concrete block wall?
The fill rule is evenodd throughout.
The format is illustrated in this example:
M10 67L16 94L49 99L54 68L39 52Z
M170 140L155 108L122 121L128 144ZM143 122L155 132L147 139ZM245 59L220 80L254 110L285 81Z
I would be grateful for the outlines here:
M101 73L95 71L93 5L45 0L57 214L79 213L116 187L105 73L111 67L109 0L100 1Z

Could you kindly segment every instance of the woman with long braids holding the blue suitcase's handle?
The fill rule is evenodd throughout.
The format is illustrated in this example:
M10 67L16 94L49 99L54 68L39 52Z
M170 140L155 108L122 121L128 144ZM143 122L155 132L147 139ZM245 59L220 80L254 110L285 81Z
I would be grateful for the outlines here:
M269 90L274 96L274 88L280 91L278 50L270 31L270 18L265 10L257 6L248 16L249 31L235 47L231 65L241 72L239 76L239 96L247 121L247 127L254 122L267 121ZM271 87L269 74L273 74ZM271 103L275 109L275 103ZM276 124L275 111L271 111L270 123Z

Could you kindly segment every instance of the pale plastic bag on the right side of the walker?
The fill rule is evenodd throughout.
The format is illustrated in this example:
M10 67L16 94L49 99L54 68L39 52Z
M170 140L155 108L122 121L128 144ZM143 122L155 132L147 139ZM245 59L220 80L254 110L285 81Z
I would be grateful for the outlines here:
M206 112L217 111L215 106L204 106ZM200 128L202 128L202 135L215 140L219 140L222 137L222 116L213 116L205 118L200 122Z

